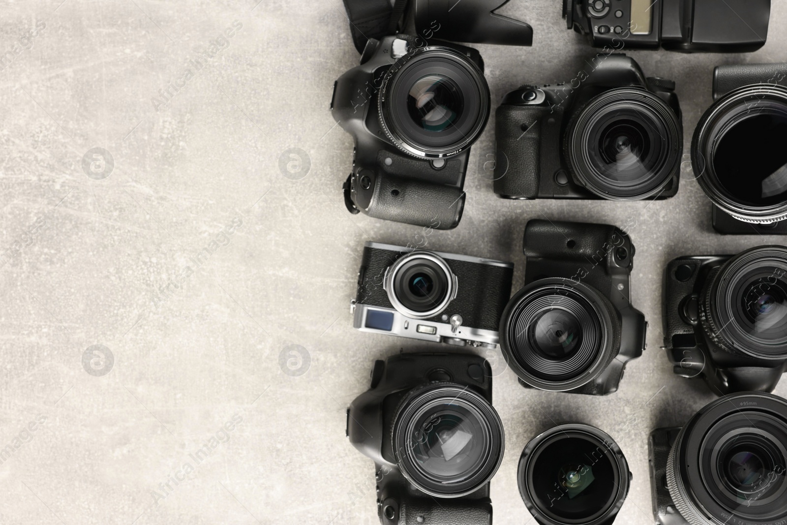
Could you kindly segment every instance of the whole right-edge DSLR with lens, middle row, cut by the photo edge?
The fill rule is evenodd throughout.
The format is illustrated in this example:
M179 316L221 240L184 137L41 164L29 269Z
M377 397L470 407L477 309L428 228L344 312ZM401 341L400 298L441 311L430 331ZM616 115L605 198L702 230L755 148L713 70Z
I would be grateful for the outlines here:
M674 373L716 394L774 390L787 370L787 247L675 259L663 297Z

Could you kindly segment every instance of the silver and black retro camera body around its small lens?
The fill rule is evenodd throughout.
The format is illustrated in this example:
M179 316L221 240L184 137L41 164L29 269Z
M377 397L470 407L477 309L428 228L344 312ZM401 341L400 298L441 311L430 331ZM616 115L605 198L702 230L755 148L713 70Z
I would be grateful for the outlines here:
M408 312L394 290L397 262L422 255L442 261L447 268L448 301L442 310L427 312L427 317ZM511 296L513 273L514 265L508 262L367 242L357 295L351 302L353 327L423 341L494 348L501 312Z

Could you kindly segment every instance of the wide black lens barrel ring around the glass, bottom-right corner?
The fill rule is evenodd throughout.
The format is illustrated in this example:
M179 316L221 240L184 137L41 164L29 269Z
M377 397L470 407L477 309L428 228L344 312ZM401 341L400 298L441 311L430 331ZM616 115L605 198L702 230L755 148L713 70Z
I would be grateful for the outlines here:
M750 505L738 501L737 507L730 508L732 502L719 498L708 482L708 475L702 472L712 468L709 458L717 446L724 444L716 442L720 435L745 435L747 431L756 431L760 427L768 429L768 432L760 434L778 434L781 441L774 443L777 449L787 449L787 401L763 392L728 394L711 401L682 427L667 458L667 487L678 511L689 523L721 524L736 518L761 525L784 523L787 504L781 508L778 505L773 508L756 506L759 516L750 510L751 501ZM737 432L731 432L735 430ZM763 486L763 494L770 497L774 491L787 490L784 468L782 463L781 472L773 472L774 476L769 476L770 481ZM785 502L787 499L781 497L777 501ZM739 512L741 508L745 511Z

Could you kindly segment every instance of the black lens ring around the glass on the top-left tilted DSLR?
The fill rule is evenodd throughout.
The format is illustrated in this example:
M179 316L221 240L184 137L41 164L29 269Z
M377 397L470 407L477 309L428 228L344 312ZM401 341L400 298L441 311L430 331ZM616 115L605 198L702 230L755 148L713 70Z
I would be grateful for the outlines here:
M423 132L406 116L408 93L426 76L435 77L434 85L442 84L460 95L454 101L461 106L456 108L456 124L446 128L445 134ZM383 76L377 97L379 123L390 142L405 153L419 158L450 157L467 150L482 134L491 113L490 98L483 72L466 56L445 46L418 47L400 57Z

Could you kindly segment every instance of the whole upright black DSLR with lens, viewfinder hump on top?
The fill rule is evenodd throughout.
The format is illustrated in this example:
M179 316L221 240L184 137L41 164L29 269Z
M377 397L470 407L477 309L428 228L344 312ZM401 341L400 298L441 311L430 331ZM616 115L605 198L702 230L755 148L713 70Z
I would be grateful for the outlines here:
M502 198L632 201L678 192L683 124L674 82L599 54L570 83L525 86L497 108Z

